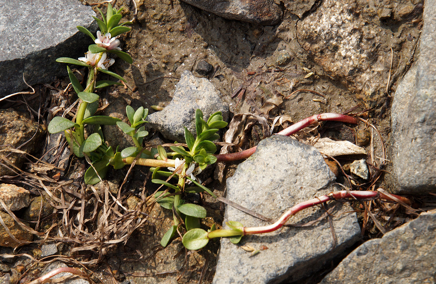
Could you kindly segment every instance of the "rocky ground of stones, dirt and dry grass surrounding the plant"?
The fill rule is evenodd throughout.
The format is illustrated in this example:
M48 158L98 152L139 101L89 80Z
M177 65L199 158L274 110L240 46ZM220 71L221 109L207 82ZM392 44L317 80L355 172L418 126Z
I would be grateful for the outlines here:
M309 210L293 219L296 226L247 237L242 246L223 238L199 251L185 250L180 240L164 249L159 242L172 217L148 200L156 188L148 169L112 170L108 181L86 186L86 162L69 154L62 135L46 131L53 116L73 116L77 107L65 65L54 59L86 51L89 38L75 34L75 26L96 30L92 10L106 4L51 1L36 9L44 11L44 23L26 7L5 4L0 11L16 14L0 13L7 25L0 37L9 32L12 42L23 44L0 46L6 50L0 75L7 78L0 84L1 281L27 283L64 263L81 263L91 276L74 283L435 283L434 5L252 2L113 0L133 21L120 38L133 64L117 60L111 67L126 83L99 92L99 113L126 120L127 105L149 108L155 113L145 144L155 145L183 140L181 126L189 128L194 109L223 111L234 123L225 129L225 142L242 149L262 142L249 160L210 168L202 180L272 219L341 186L382 188L413 203L331 205L328 218L325 209ZM34 91L6 97L26 87L23 71ZM294 137L304 144L269 137L273 123L277 132L327 112L363 122L322 123ZM130 146L118 128L103 132L109 144ZM355 144L328 152L340 167L325 155L330 140L316 144L325 137ZM265 223L206 195L189 198L207 208L203 226ZM95 222L102 214L105 221Z

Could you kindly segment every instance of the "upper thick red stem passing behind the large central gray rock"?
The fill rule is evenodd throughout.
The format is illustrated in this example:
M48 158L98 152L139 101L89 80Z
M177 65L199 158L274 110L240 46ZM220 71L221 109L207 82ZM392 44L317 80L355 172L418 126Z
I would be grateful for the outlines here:
M310 125L313 125L317 123L318 121L342 121L345 123L358 123L358 120L352 116L347 116L344 114L339 113L321 113L321 114L315 114L313 116L309 116L303 120L300 120L297 123L294 123L290 127L287 127L283 129L282 131L278 132L277 134L280 135L286 135L290 136L300 130L302 130L305 127L308 127ZM218 162L230 162L230 161L238 161L242 159L246 159L250 157L255 151L256 147L249 148L247 150L236 152L236 153L229 153L229 154L218 154L215 155L217 157Z

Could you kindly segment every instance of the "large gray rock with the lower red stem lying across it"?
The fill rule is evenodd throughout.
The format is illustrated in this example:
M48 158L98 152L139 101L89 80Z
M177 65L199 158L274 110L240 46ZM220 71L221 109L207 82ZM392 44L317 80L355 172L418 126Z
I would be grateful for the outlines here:
M277 219L296 203L331 192L334 180L316 148L275 135L262 140L256 152L239 164L227 180L227 198ZM332 214L337 216L333 220L336 247L327 219L307 227L283 227L276 232L243 237L241 245L268 247L253 257L228 238L222 238L213 284L280 283L285 279L292 282L313 273L360 238L356 214L341 214L350 212L351 207L345 203L335 205ZM299 212L291 222L306 223L323 214L323 209L314 207ZM224 219L244 226L266 225L230 206L226 207Z

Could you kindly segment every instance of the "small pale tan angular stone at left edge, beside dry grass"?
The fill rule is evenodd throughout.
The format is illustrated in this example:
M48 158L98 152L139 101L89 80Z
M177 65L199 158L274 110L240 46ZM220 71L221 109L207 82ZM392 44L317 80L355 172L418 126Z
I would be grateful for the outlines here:
M17 185L0 184L0 198L11 211L20 210L30 204L30 192Z

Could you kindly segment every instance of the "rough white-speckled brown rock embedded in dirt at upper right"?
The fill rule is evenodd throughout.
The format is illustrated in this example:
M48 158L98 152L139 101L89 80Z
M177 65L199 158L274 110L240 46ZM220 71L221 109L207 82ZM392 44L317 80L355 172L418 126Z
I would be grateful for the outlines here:
M419 34L417 28L406 32L412 26L404 26L398 33L398 27L391 30L381 25L376 11L373 15L362 14L362 10L371 10L360 6L366 7L367 2L344 0L337 4L334 0L323 1L314 13L298 22L297 38L327 75L374 106L385 96L390 48L395 52L402 43L410 44L411 48L399 58L394 58L392 82L404 73ZM406 39L407 33L413 36Z

